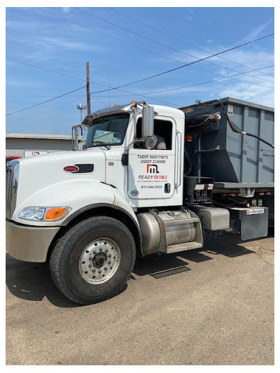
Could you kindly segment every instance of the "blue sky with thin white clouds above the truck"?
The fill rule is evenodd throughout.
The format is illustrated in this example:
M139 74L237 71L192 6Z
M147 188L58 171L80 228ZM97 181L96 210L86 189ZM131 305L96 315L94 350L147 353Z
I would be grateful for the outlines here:
M56 15L6 8L6 132L71 134L76 106L86 104L87 61L92 111L134 99L176 108L228 96L274 107L274 36L99 92L272 34L274 8L111 7L41 7Z

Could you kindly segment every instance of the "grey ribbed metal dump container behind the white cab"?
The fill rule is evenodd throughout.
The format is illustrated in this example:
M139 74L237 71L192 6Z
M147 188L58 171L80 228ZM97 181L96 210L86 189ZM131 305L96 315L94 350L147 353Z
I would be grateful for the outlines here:
M219 101L223 103L228 118L242 131L274 144L274 108L231 97ZM233 132L219 102L186 106L181 110L185 113L189 133L192 127L188 125L196 115L221 113L218 123L205 130L196 130L193 143L186 143L194 175L211 176L222 188L237 186L236 183L239 186L274 186L274 148L253 137Z

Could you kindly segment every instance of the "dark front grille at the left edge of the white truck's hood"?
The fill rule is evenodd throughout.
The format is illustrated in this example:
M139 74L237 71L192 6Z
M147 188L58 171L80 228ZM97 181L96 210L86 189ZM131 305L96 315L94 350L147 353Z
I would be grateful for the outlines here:
M20 162L11 161L6 165L6 218L10 219L15 211L18 192L18 174Z

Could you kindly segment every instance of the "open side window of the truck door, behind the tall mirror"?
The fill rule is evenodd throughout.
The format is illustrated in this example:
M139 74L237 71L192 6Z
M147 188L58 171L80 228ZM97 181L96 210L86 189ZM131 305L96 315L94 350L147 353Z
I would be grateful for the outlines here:
M137 139L141 138L142 118L137 120ZM155 119L154 134L158 137L158 143L154 149L172 150L172 122L169 120ZM144 143L137 141L134 143L134 148L144 148Z

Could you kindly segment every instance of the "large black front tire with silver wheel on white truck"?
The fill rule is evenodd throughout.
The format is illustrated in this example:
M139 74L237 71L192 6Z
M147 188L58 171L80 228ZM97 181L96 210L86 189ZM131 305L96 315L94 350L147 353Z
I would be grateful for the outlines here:
M134 267L136 248L130 230L107 216L73 225L50 255L50 274L73 302L92 304L123 289Z

